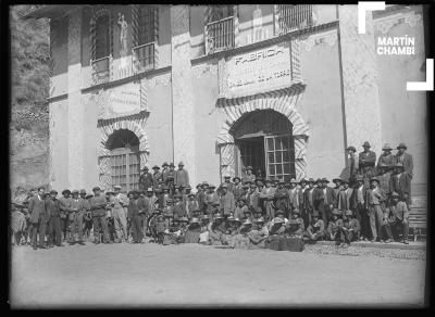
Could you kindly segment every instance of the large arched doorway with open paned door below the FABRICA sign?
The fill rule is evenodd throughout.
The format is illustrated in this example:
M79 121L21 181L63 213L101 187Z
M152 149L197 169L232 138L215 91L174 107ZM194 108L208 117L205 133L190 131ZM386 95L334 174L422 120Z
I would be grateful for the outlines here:
M293 125L273 110L244 114L229 129L235 143L235 174L253 174L289 181L296 177Z

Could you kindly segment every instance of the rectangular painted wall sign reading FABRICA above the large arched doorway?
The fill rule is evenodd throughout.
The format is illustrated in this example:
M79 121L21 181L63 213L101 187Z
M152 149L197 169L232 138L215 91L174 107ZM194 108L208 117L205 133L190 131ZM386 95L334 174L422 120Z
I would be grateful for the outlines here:
M249 96L289 87L291 62L289 43L279 43L226 61L227 98Z

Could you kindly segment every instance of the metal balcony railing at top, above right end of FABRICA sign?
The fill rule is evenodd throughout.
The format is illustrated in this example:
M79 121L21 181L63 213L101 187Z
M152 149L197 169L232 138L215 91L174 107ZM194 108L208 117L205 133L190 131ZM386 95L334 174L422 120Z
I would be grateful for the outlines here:
M279 34L313 25L312 4L278 4Z

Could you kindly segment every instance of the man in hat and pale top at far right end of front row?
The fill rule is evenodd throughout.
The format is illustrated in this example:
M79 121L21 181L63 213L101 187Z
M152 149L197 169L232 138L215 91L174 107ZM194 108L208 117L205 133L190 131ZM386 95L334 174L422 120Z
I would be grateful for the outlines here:
M406 202L399 200L400 195L397 192L391 193L391 204L386 208L386 216L389 218L387 226L387 234L393 238L390 227L395 229L397 233L402 234L402 241L405 244L409 244L409 210Z

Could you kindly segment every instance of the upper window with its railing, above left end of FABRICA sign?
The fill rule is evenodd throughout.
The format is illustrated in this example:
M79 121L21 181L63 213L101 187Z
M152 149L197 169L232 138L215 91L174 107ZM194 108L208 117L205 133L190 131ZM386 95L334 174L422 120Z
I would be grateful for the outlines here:
M206 11L207 51L234 47L234 5L214 5Z

